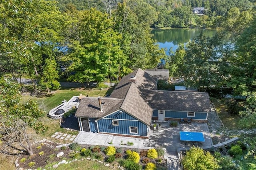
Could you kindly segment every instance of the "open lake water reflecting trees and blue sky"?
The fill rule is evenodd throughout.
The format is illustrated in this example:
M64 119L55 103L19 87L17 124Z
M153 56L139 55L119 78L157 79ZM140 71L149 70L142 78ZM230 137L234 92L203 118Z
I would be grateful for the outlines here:
M157 41L160 48L164 48L168 55L170 49L176 51L179 44L185 44L192 38L195 38L200 32L203 32L205 36L213 36L216 30L208 29L184 29L184 28L172 28L168 30L152 30L152 37Z

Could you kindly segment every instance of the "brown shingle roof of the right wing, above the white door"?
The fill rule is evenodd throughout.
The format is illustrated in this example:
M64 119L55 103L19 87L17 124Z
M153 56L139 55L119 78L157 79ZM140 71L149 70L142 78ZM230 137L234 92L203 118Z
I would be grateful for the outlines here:
M142 96L152 109L169 111L210 112L208 93L187 91L145 90Z

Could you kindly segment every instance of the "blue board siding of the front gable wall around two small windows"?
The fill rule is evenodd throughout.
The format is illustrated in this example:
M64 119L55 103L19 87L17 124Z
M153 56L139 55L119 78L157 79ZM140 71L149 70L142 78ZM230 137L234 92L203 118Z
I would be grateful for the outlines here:
M113 126L112 120L118 121L118 126ZM137 121L134 117L128 115L125 112L122 114L116 112L108 115L107 117L98 120L97 124L99 128L98 132L147 136L147 125ZM138 134L130 133L129 127L137 127Z

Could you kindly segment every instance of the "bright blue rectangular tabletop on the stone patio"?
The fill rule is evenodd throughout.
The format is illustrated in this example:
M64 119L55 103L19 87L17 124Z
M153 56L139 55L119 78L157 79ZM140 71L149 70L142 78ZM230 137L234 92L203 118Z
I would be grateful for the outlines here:
M180 140L192 142L205 142L202 132L180 132Z

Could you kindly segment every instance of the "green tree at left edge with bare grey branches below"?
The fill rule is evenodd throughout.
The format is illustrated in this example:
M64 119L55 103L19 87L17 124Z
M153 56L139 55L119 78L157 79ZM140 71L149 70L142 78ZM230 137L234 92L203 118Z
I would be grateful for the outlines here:
M0 138L1 150L9 153L9 148L16 148L17 144L32 155L31 128L36 133L44 133L47 127L40 121L45 115L38 108L35 101L21 102L19 85L8 79L0 78Z

